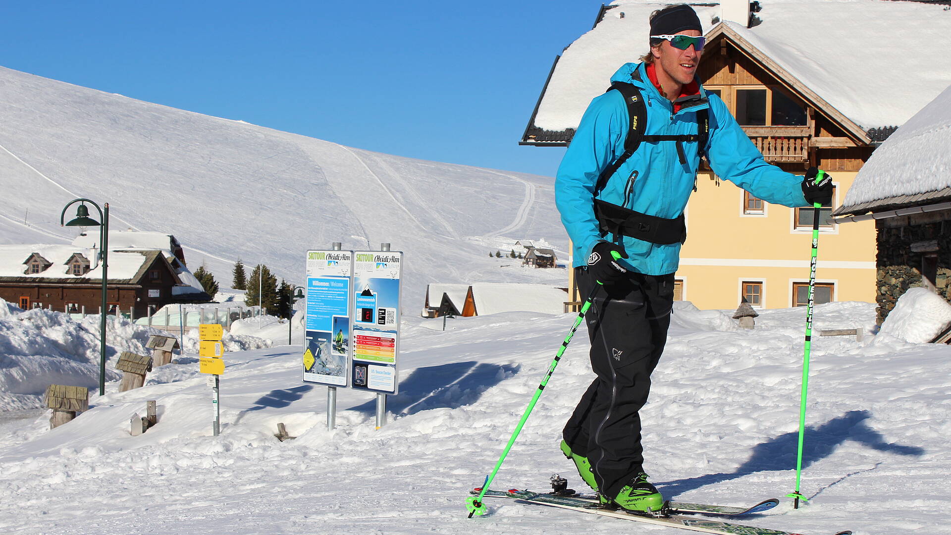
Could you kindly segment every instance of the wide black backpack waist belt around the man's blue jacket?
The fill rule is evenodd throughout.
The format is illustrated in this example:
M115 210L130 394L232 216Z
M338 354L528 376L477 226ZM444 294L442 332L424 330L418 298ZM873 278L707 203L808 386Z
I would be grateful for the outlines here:
M648 215L594 199L594 217L602 235L628 236L659 246L682 244L687 240L684 214L674 219Z

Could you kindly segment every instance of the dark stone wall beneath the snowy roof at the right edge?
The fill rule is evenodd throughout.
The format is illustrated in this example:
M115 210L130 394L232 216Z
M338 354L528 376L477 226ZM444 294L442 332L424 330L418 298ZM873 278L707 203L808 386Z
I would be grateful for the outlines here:
M906 222L914 220L906 218ZM897 221L879 220L878 254L878 291L876 302L879 305L877 321L879 325L895 307L895 302L909 287L922 285L922 256L926 253L914 252L911 244L936 240L938 242L938 274L935 280L939 295L951 302L951 221L938 221L904 227L885 227L886 222L894 225Z

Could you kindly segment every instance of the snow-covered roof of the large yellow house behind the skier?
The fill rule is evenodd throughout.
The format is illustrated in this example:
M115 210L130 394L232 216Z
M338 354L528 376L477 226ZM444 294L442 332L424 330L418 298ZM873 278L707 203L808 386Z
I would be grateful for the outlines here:
M650 12L670 4L615 0L558 60L534 125L574 129L611 74L648 51ZM951 11L882 0L761 0L762 24L728 27L863 129L902 125L951 84ZM694 5L704 32L719 5ZM622 15L623 13L623 15ZM918 45L913 45L917 43ZM913 81L913 83L909 83Z

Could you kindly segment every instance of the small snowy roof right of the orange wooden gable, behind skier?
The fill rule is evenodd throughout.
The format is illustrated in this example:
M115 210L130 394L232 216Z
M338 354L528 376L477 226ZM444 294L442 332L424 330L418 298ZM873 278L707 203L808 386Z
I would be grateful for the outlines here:
M480 316L518 310L562 314L568 299L564 289L546 285L476 283L472 287Z

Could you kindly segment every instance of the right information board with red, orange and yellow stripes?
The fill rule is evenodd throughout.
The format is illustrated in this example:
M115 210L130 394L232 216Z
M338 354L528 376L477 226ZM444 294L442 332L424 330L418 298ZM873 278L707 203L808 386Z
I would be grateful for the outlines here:
M354 388L397 393L402 259L399 251L354 252Z

